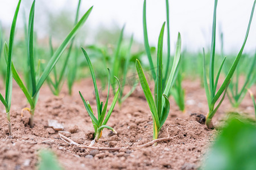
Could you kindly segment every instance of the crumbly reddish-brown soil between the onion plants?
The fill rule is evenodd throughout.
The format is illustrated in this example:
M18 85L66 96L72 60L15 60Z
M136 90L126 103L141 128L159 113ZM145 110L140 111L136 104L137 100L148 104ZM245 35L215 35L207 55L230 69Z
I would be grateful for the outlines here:
M35 126L32 129L28 126L29 113L20 117L20 111L28 107L28 104L23 92L14 84L12 139L8 138L6 114L3 105L0 105L0 169L35 169L39 163L38 153L42 148L51 148L64 169L197 169L215 140L217 131L207 130L205 125L197 122L200 120L197 115L205 115L208 107L199 80L185 80L183 86L186 91L186 112L180 112L171 99L171 112L159 135L160 138L167 137L166 128L170 126L168 133L171 137L178 135L176 138L170 142L160 142L157 146L114 152L68 145L47 125L49 119L57 120L63 123L64 131L72 133L69 138L79 144L89 145L92 141L93 126L78 91L90 101L95 112L96 102L91 79L76 83L72 96L68 96L67 90L64 89L60 97L55 97L48 87L44 86L40 91ZM255 94L256 88L253 87L252 90ZM3 88L0 91L3 92ZM106 92L103 92L101 99L105 97ZM250 97L246 95L239 111L253 117L252 106ZM224 113L231 110L226 97L213 118L214 124L224 120ZM197 114L190 116L192 113ZM118 134L113 135L105 129L96 146L137 146L152 140L152 118L140 86L121 108L116 105L108 125L117 130Z

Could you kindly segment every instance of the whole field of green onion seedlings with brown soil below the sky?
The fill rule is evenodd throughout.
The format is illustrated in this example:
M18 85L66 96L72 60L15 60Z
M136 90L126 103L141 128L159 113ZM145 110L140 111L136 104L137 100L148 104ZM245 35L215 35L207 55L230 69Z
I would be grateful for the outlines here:
M143 42L124 24L94 44L81 41L94 12L86 1L59 39L39 38L38 1L15 2L10 28L0 20L0 169L256 169L256 46L244 50L256 0L232 53L216 31L218 0L199 52L171 37L168 0L156 46L150 1Z

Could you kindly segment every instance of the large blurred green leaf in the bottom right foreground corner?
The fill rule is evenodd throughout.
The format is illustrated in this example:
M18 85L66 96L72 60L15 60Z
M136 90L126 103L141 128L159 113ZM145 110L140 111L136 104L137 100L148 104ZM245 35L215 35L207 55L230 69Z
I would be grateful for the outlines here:
M255 124L238 118L230 120L214 143L203 169L256 169Z

